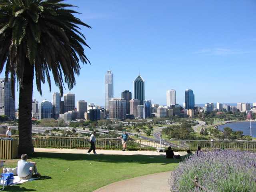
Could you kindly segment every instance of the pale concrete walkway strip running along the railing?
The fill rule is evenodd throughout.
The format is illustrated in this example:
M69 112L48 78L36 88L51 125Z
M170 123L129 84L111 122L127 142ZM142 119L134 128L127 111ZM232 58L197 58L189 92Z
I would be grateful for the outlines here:
M34 148L35 152L47 152L47 153L72 153L72 154L86 154L88 149L56 149L56 148ZM165 153L159 153L156 151L121 151L121 150L96 150L99 155L162 155ZM186 155L186 152L174 152L175 155ZM92 152L90 155L94 155Z

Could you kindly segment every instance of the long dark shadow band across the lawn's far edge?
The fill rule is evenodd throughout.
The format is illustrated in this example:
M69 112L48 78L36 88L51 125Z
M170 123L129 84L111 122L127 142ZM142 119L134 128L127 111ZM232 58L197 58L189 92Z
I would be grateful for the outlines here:
M178 163L182 159L166 159L164 156L150 156L150 155L87 155L87 154L69 154L69 153L45 153L36 152L33 158L50 158L62 159L68 161L92 161L92 162L108 162L108 163L138 163L138 164L170 164ZM36 160L35 160L36 161Z

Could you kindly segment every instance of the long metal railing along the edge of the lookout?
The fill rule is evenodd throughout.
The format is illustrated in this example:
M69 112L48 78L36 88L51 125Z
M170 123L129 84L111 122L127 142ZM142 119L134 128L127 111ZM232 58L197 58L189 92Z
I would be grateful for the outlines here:
M4 137L5 135L0 135ZM17 135L12 137L16 138ZM34 147L42 148L90 148L88 137L56 137L56 136L32 136ZM96 138L96 148L105 150L122 149L122 140L117 138ZM174 150L196 150L201 146L202 150L234 149L256 152L256 141L221 141L221 140L164 140L163 148L171 146ZM131 139L127 142L129 150L156 150L160 148L159 140Z

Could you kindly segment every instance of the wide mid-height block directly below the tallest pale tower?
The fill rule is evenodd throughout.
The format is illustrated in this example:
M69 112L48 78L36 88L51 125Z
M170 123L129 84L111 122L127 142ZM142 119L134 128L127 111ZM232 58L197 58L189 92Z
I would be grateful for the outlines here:
M109 118L112 120L126 119L126 100L122 98L112 98L109 101Z

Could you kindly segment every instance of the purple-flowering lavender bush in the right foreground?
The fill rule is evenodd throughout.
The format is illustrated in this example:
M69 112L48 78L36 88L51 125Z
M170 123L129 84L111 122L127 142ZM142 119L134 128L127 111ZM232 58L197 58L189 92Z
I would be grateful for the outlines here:
M202 152L181 162L172 173L172 192L194 192L190 180L211 192L256 192L256 154L234 150Z

